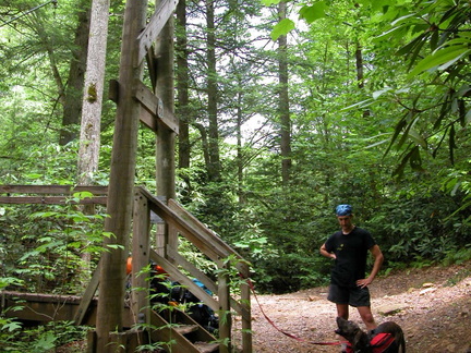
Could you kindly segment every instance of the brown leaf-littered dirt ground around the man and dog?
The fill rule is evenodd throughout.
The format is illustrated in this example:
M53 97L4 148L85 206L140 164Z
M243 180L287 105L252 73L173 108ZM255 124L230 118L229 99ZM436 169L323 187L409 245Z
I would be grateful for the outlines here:
M282 295L257 295L259 305L253 299L253 351L340 352L339 345L312 343L340 339L334 332L336 309L326 300L327 290L314 288ZM398 271L376 278L370 291L376 322L399 324L408 353L471 353L471 261ZM357 309L351 308L350 319L365 328Z

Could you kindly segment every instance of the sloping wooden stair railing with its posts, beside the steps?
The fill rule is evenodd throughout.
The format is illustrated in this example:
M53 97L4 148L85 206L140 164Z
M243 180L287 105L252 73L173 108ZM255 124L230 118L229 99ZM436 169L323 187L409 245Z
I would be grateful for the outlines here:
M221 342L231 341L232 311L235 312L237 315L240 315L242 320L242 351L246 353L252 352L250 287L246 282L250 276L249 264L217 234L210 231L173 199L169 199L166 204L161 199L152 195L145 188L137 187L136 203L142 204L142 207L135 204L135 224L145 224L148 222L148 214L145 211L136 211L136 209L145 207L148 212L153 211L157 214L168 226L168 241L160 242L165 244L165 248L161 249L160 254L152 251L150 259L160 265L172 279L186 287L189 291L219 314L219 339ZM141 227L141 229L148 229L148 227L144 226ZM217 265L217 282L213 281L179 254L178 241L176 240L178 234L184 236ZM133 238L142 240L142 235L137 234L134 228ZM157 236L166 235L161 234ZM136 246L134 240L133 244L134 261L134 259L142 256L144 252L142 252L141 245ZM142 263L145 264L145 258L142 259ZM234 267L234 271L231 270L231 266ZM186 275L184 275L184 272L188 272L191 277L200 280L207 289L217 294L217 299L213 297L195 284ZM235 276L238 278L230 278L230 273L237 273ZM231 283L240 285L239 301L231 296ZM229 352L230 346L228 348L227 345L221 344L219 351Z

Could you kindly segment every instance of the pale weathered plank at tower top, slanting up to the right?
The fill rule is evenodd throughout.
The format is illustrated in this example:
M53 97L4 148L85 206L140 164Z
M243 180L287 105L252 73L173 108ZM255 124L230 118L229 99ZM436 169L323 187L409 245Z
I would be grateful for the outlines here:
M177 9L177 4L178 0L162 0L158 4L156 12L154 12L154 15L149 20L149 23L137 37L136 66L142 62L142 60L144 60L153 42L156 40L167 21Z

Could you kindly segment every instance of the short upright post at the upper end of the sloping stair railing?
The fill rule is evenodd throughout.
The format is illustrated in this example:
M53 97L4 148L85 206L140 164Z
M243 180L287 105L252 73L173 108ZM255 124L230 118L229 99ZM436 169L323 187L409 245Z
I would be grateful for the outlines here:
M147 198L136 190L134 198L132 245L132 292L131 307L134 322L150 324L149 273L138 272L149 264L150 210Z

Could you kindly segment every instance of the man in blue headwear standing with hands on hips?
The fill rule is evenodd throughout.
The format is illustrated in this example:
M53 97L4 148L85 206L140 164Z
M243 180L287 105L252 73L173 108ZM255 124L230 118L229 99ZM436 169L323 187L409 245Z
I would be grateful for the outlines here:
M353 224L350 205L337 206L336 215L341 230L321 246L321 254L335 260L327 299L337 305L337 316L345 319L349 317L349 305L357 307L366 329L373 330L376 322L371 312L367 285L379 271L383 253L370 232ZM374 257L374 265L365 278L369 251Z

